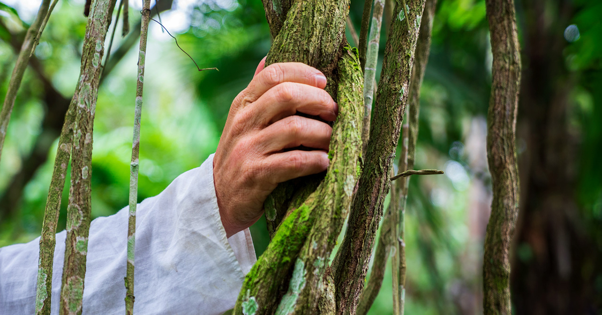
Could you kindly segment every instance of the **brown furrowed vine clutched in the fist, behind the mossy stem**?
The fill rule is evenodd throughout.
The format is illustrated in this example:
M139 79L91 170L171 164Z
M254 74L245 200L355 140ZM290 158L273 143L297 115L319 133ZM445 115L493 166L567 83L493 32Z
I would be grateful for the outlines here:
M288 14L289 11L292 11L293 14L287 15L287 22L282 24L284 33L280 34L283 26L272 23L279 21L282 14L273 10L272 0L264 1L268 24L270 24L272 35L275 36L265 66L277 62L303 62L313 66L326 76L326 91L336 101L338 78L334 70L337 68L338 58L343 54L342 45L344 45L345 18L349 0L341 2L330 0L284 1L279 3L292 3L292 6L287 4L282 7L282 14ZM299 43L304 43L304 45L299 45ZM318 174L290 180L279 184L268 196L264 209L266 218L268 218L267 226L270 237L273 237L273 232L276 231L287 210L298 207L310 193L315 191L322 178L323 175ZM273 220L271 220L272 218Z

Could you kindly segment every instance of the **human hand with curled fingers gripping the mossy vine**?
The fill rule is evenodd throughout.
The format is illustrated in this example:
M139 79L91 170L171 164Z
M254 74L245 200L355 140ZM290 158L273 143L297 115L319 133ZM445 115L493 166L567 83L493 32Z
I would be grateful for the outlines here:
M320 173L329 164L332 128L297 112L337 117L337 104L324 91L326 77L303 63L275 63L264 69L232 102L216 154L213 179L227 237L249 228L278 183ZM303 145L315 150L286 150Z

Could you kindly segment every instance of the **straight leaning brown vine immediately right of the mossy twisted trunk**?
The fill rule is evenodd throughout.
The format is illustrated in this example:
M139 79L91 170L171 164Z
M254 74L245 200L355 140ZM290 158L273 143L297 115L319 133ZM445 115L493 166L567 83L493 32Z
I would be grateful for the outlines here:
M333 264L339 314L355 314L390 185L389 172L402 127L424 9L424 0L405 2L408 16L400 13L401 2L397 2L393 11L394 21L385 46L364 171L353 200L347 234Z

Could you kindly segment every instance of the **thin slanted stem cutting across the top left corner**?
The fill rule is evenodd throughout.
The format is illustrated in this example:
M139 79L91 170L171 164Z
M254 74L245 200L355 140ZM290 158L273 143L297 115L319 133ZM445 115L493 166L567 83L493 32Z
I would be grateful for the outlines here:
M23 40L19 57L17 57L13 74L8 83L6 97L4 98L4 104L2 104L2 111L0 111L0 158L2 157L2 147L4 147L8 121L10 121L10 114L13 112L14 100L17 98L17 91L19 91L19 86L23 80L23 74L29 63L29 57L31 57L31 54L36 50L36 46L39 43L43 30L42 25L44 24L46 16L52 12L49 10L49 6L50 0L43 0L42 4L40 4L36 19L31 26L29 26L27 33L25 34L25 40Z

